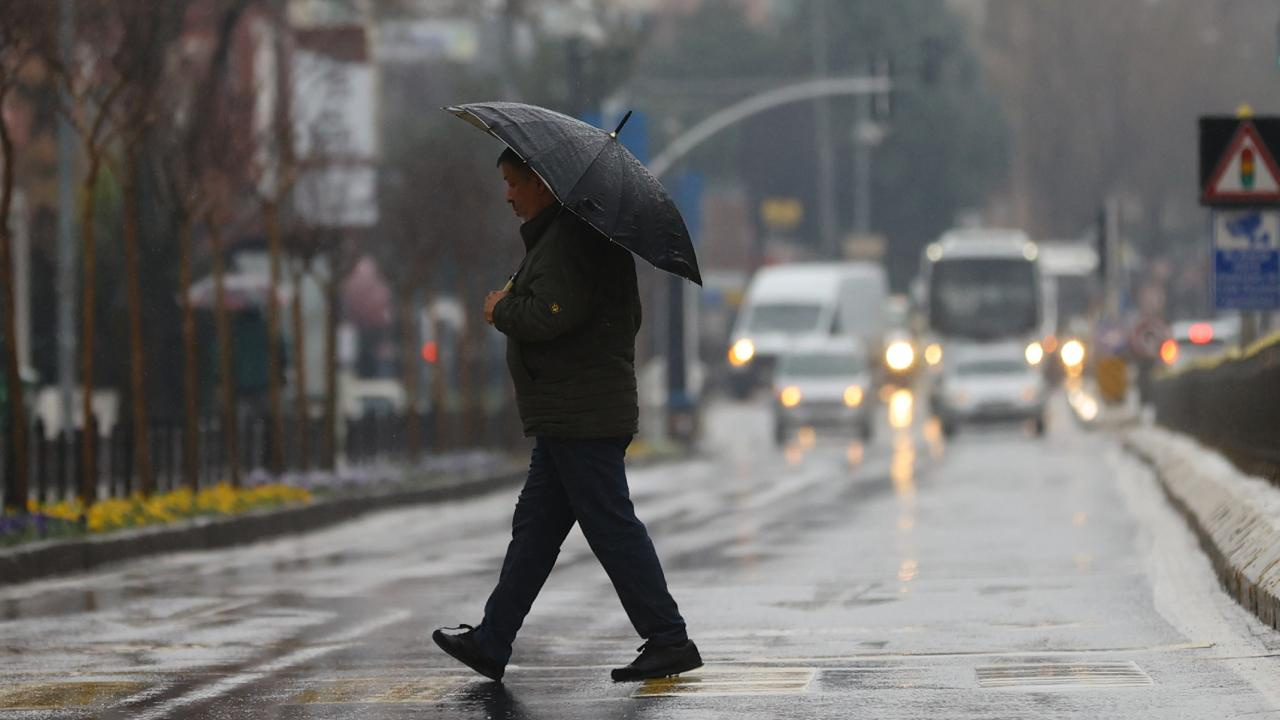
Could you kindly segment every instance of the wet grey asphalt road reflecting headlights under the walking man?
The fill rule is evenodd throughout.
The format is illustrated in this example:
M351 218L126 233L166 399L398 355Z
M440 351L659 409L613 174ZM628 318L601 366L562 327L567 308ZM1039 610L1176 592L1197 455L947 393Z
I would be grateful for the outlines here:
M1055 407L943 442L772 446L721 405L703 459L634 470L707 667L617 685L640 643L577 530L504 684L475 623L515 491L0 588L0 717L1280 717L1280 634L1216 585L1153 479Z

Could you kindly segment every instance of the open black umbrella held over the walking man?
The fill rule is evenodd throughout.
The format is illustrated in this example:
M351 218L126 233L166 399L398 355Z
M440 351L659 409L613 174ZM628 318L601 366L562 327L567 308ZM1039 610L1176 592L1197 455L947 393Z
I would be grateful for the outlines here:
M694 243L658 178L605 132L522 102L468 102L445 110L507 143L561 205L654 266L703 284Z

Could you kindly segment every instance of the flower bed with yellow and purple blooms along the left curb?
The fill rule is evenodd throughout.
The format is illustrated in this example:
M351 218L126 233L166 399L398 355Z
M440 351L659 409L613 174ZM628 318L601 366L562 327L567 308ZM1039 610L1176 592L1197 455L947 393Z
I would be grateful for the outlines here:
M311 492L285 484L232 487L221 483L192 492L188 488L143 497L111 498L95 502L86 511L79 500L40 505L27 503L27 512L0 516L0 546L22 542L65 538L84 533L106 533L173 523L186 518L219 518L251 510L305 505Z

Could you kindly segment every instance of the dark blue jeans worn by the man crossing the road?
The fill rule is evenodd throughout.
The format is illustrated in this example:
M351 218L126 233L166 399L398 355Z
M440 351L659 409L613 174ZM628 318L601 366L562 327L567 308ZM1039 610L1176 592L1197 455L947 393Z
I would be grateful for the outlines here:
M511 643L575 521L604 566L636 633L655 646L689 638L676 601L667 592L649 530L631 505L623 464L628 445L630 437L538 438L529 478L516 502L498 587L476 626L476 641L494 660L506 664L511 659Z

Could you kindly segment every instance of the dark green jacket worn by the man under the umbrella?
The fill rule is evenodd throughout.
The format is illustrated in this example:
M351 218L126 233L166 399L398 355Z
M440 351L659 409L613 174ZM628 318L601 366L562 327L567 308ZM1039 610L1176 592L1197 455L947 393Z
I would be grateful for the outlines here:
M558 204L520 234L525 261L493 324L507 336L525 434L635 434L640 292L631 252Z

